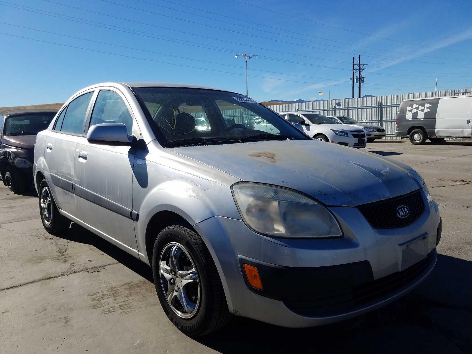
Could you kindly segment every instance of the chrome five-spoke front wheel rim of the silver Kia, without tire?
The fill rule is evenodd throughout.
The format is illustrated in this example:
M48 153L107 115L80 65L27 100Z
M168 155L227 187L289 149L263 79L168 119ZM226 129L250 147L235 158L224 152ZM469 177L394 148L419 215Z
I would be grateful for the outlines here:
M189 319L200 305L200 282L194 261L182 244L166 244L160 253L160 285L177 316Z

